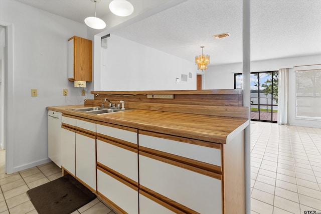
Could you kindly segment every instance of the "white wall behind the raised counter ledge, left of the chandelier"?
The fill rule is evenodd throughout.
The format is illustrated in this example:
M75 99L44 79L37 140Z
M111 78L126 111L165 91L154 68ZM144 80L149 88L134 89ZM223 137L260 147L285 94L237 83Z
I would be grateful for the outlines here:
M196 71L193 62L111 34L101 48L100 73L95 68L95 91L193 90ZM192 78L175 83L190 72Z

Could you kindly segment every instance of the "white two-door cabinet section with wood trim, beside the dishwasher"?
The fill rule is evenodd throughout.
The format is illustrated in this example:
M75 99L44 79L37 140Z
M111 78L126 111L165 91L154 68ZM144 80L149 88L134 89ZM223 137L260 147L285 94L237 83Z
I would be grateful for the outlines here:
M96 121L62 116L62 167L96 191Z

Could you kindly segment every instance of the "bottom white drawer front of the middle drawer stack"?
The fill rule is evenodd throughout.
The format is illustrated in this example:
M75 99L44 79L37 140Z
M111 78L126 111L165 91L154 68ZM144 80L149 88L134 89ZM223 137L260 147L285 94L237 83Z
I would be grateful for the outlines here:
M138 213L138 192L98 169L97 190L127 213Z

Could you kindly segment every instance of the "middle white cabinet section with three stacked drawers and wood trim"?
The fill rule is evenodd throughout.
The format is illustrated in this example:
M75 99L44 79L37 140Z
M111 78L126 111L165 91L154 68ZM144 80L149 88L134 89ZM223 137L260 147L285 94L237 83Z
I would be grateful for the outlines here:
M97 122L97 192L119 213L138 213L137 129Z

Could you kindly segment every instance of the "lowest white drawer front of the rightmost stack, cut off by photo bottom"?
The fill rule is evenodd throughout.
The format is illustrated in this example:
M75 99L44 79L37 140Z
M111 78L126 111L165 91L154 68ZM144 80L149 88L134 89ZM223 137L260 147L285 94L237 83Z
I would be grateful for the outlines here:
M174 214L175 212L139 194L139 214Z

